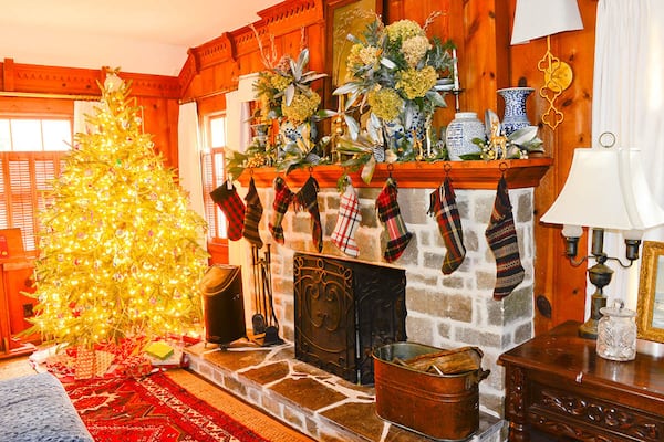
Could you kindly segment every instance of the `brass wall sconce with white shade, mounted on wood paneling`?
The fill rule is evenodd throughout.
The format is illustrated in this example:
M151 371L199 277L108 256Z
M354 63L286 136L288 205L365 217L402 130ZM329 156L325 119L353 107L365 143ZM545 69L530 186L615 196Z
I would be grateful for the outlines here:
M537 67L544 74L539 94L549 103L542 123L556 129L564 115L556 107L556 99L572 83L572 69L551 53L551 35L583 29L577 0L517 0L511 44L547 38L547 52Z

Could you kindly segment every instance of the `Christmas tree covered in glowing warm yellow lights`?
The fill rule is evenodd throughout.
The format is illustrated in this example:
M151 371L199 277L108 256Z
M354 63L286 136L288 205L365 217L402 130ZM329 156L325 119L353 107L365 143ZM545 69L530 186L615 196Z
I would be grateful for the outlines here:
M40 215L29 333L90 348L199 329L205 220L143 134L129 86L110 72L100 87Z

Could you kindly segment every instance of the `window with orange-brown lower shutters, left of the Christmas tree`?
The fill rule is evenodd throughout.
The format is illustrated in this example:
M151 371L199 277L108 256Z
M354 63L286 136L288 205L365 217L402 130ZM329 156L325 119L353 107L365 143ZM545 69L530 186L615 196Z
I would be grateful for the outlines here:
M37 250L38 215L71 143L71 119L0 117L0 229L21 229L29 252Z

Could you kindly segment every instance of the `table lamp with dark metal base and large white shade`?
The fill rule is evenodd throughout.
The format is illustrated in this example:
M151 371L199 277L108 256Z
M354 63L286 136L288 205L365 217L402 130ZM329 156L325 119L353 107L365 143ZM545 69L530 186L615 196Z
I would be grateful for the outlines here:
M579 148L562 191L541 218L542 222L563 224L566 254L578 266L588 259L595 265L588 270L595 286L591 297L590 318L579 328L579 335L596 338L600 308L606 305L603 288L613 271L605 264L616 261L629 267L639 259L644 230L664 224L664 210L653 198L643 173L641 152L622 148ZM591 256L575 261L582 227L592 229ZM621 231L625 239L626 264L603 251L604 230Z

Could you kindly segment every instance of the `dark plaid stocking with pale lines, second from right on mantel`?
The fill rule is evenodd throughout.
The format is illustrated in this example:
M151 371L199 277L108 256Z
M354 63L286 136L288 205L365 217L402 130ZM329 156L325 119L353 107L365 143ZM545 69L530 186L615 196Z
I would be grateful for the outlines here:
M432 192L428 214L436 217L438 230L447 249L442 270L443 274L448 275L457 270L466 257L461 219L449 178L445 178L443 186Z

